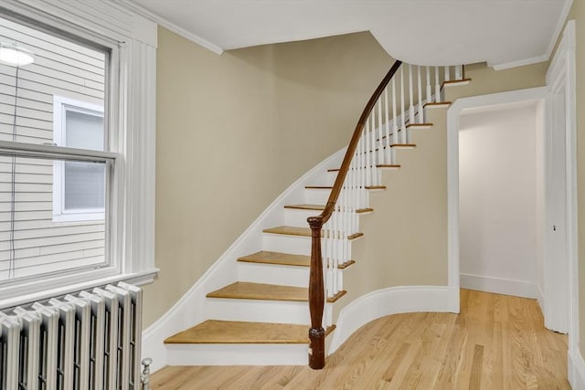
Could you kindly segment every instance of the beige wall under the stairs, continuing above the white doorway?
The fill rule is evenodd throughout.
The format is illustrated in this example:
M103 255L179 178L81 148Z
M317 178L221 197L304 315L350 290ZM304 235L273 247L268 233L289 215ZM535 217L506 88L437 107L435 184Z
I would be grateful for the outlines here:
M495 71L485 64L465 67L471 83L451 87L446 100L522 90L545 84L546 63ZM356 265L346 270L347 303L373 290L408 285L447 285L446 111L432 111L431 130L413 135L416 149L400 151L399 171L383 176L388 189L370 195L374 214L363 216L364 237L352 247Z

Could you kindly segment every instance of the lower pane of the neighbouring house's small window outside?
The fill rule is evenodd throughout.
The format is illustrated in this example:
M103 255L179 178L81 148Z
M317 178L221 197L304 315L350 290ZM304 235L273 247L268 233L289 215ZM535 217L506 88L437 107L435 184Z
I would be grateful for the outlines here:
M102 163L65 163L65 210L105 206L106 171Z

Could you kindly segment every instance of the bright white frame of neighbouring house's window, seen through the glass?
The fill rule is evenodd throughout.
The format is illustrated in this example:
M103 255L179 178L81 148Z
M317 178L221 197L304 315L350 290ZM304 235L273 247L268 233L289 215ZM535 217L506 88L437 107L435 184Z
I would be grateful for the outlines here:
M53 95L53 142L57 146L67 147L67 111L76 111L103 118L103 106ZM104 207L75 210L65 208L65 163L60 160L54 161L53 222L99 221L102 219L105 219Z

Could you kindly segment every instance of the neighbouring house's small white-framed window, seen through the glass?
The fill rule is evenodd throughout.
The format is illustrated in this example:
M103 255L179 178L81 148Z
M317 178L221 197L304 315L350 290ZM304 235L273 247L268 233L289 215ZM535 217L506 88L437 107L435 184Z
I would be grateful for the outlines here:
M103 107L53 96L53 141L58 146L104 150ZM53 221L104 219L106 175L94 163L54 162Z

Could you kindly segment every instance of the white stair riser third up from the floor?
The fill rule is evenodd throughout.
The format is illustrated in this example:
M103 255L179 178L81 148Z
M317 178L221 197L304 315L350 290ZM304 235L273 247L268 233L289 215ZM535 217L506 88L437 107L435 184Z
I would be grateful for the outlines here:
M309 287L309 268L238 261L238 280L284 286Z

